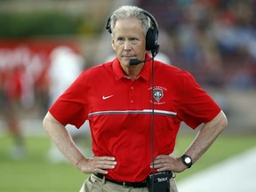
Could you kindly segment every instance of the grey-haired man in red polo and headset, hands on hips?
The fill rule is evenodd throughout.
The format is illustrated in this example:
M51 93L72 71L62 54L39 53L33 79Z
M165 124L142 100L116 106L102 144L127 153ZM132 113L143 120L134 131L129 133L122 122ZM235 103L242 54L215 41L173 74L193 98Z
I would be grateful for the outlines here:
M49 109L44 129L77 169L93 173L81 192L148 191L148 175L188 169L227 126L227 119L188 72L149 57L147 50L154 57L158 48L157 24L150 13L122 6L107 28L116 59L84 71ZM76 148L65 129L66 124L79 128L87 119L92 157ZM175 157L182 121L193 129L204 125L184 156ZM169 186L177 191L174 180Z

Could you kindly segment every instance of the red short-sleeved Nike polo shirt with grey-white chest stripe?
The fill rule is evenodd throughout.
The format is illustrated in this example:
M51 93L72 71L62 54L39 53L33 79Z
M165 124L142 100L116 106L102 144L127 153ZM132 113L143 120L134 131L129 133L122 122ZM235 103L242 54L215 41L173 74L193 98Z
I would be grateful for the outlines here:
M132 81L116 59L84 71L50 112L60 123L77 128L89 120L93 153L116 157L108 178L141 181L152 172L151 92L151 61ZM154 105L154 156L172 153L181 121L195 129L220 112L193 76L159 61L155 61Z

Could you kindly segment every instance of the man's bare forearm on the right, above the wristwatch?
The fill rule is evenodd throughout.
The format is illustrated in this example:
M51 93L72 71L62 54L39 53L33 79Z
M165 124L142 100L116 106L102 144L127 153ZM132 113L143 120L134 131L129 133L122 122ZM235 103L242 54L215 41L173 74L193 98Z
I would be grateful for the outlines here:
M191 156L193 163L212 146L214 140L218 138L220 132L226 128L227 124L227 118L222 111L211 122L204 124L196 135L196 139L185 152L186 155Z

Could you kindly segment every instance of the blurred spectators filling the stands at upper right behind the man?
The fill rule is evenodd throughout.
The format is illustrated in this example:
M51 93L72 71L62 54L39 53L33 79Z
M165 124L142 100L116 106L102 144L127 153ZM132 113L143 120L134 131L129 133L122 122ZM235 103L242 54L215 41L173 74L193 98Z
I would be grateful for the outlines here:
M255 87L255 0L140 0L139 6L170 35L161 50L200 84Z

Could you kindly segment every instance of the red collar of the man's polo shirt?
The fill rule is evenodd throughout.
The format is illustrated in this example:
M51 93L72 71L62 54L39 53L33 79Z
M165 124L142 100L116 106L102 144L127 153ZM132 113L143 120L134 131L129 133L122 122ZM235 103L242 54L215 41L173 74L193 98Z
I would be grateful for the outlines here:
M143 68L140 71L140 75L136 79L142 78L142 79L145 79L146 81L149 80L150 72L151 72L150 58L151 57L148 55L148 53L146 53L145 60L149 60L149 61L145 62ZM112 68L116 74L116 80L120 80L121 78L127 77L124 74L123 68L121 67L121 64L120 64L119 60L117 59L117 57L115 60L113 60L112 66L113 66Z

